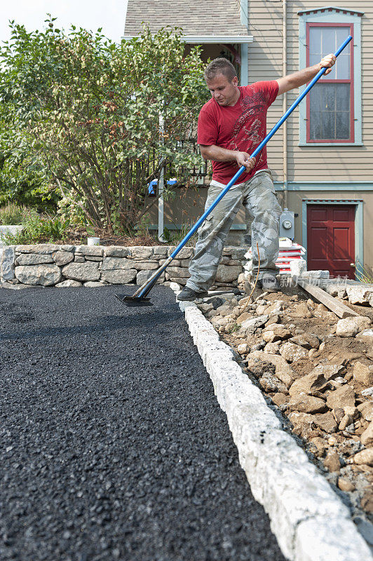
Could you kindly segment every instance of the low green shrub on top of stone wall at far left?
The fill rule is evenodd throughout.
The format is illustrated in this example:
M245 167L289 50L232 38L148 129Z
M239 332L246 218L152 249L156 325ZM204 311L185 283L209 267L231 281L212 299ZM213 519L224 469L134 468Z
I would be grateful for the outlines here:
M6 245L27 245L29 243L64 241L69 225L69 220L40 215L36 210L29 209L22 218L24 229L15 235L6 234L3 236L3 243Z

